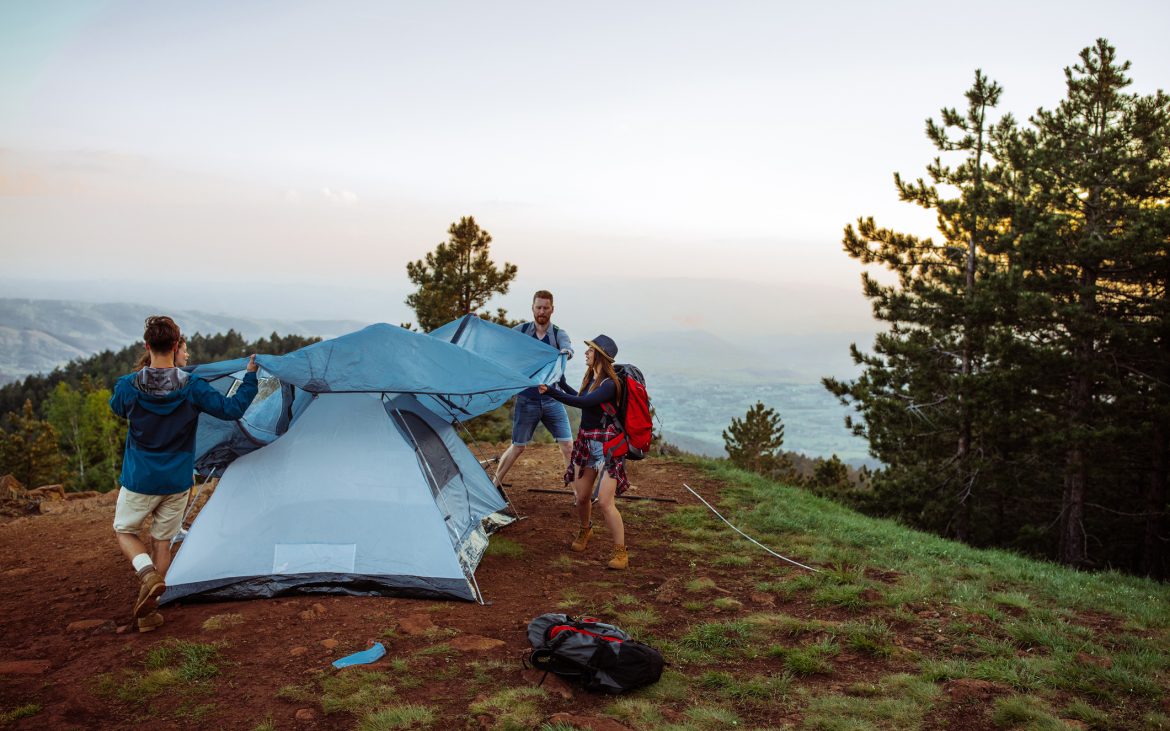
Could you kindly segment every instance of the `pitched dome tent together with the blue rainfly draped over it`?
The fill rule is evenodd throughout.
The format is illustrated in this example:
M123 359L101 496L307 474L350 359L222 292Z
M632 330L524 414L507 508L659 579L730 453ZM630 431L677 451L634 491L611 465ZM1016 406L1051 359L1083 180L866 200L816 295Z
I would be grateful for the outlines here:
M488 535L511 517L453 425L538 381L386 324L256 361L260 393L243 418L200 419L197 469L222 477L161 601L475 599ZM245 365L192 375L230 393Z

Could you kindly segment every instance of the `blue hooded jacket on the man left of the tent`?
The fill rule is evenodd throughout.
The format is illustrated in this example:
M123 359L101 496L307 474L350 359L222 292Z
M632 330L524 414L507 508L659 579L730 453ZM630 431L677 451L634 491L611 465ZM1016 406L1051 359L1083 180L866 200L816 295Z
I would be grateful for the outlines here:
M110 408L130 420L122 457L122 485L144 495L191 488L199 414L235 421L256 395L256 374L246 373L232 398L178 368L143 368L113 386Z

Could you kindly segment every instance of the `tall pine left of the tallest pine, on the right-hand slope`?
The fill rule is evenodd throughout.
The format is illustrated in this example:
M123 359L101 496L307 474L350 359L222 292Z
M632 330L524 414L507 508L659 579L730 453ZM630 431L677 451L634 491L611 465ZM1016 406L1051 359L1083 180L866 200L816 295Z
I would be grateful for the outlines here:
M863 366L856 380L824 380L859 408L861 420L847 425L887 466L875 482L879 496L888 497L885 509L965 540L970 501L980 481L992 480L984 441L999 270L990 248L1004 209L997 143L1014 125L1010 116L989 120L1000 94L976 71L966 112L943 109L941 123L927 122L928 138L940 152L958 153L958 163L935 158L929 182L895 174L902 201L936 213L941 242L880 228L872 218L846 227L849 256L885 265L899 281L885 285L862 275L875 317L892 326L876 337L873 353L852 349Z

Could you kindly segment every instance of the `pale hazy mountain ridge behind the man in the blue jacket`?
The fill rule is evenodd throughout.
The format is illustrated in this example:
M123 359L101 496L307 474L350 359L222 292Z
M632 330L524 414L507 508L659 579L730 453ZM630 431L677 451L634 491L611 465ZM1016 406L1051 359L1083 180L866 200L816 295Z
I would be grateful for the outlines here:
M156 312L170 315L191 335L235 330L249 340L273 332L331 338L369 324L233 317L131 303L0 298L0 384L137 343L143 337L143 320Z

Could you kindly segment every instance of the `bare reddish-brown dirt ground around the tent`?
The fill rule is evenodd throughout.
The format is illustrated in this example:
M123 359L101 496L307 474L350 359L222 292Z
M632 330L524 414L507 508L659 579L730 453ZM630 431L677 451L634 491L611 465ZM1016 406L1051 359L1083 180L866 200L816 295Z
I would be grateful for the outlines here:
M322 674L337 673L330 667L333 660L381 641L387 656L365 669L386 670L395 657L411 657L411 673L421 676L422 682L404 688L397 702L432 708L435 729L490 727L493 719L476 717L470 706L500 689L534 685L539 680L521 663L530 650L525 627L545 612L577 613L573 607L558 608L566 593L576 592L590 606L636 596L653 607L659 618L655 628L661 628L662 636L681 635L698 621L760 611L834 619L832 609L807 601L782 601L757 591L759 571L696 564L695 553L674 545L679 537L672 536L665 516L679 504L698 504L682 483L708 499L718 496L720 487L693 468L655 460L631 466L633 495L677 503L620 503L631 547L631 567L625 572L606 570L611 544L604 531L585 553L566 550L574 530L571 497L530 491L562 489L559 473L556 448L537 446L508 476L508 492L523 519L497 536L518 544L522 552L484 558L476 577L486 606L332 595L188 604L164 608L166 623L139 634L130 625L137 582L111 535L112 501L82 512L0 524L0 712L40 706L29 717L12 720L8 726L14 729L247 730L266 720L270 725L262 727L353 729L358 717L323 708L319 681ZM739 600L742 608L731 608L723 616L696 616L684 609L682 584L695 577L717 581L718 591ZM205 626L223 615L235 616L227 626ZM119 677L126 670L142 674L147 653L172 639L219 643L219 675L209 682L213 690L208 695L192 699L170 692L136 704L99 691L102 678ZM445 647L435 649L438 646ZM756 675L782 670L775 657L729 662L721 669ZM875 667L867 656L842 655L832 676L801 683L813 690L823 685L826 691L838 691L855 680L897 671L888 661L878 664L883 667ZM475 667L488 668L495 678L487 685L482 676L473 682L468 668ZM688 669L689 675L695 673ZM278 694L290 685L317 689L316 697ZM625 727L600 718L612 697L556 683L544 688L550 692L542 701L542 723L552 719L581 729ZM683 719L686 702L667 705L663 712L668 720L672 716ZM753 716L743 720L757 726L799 723L791 712L757 705ZM557 713L570 713L572 720ZM964 724L951 719L944 725Z

